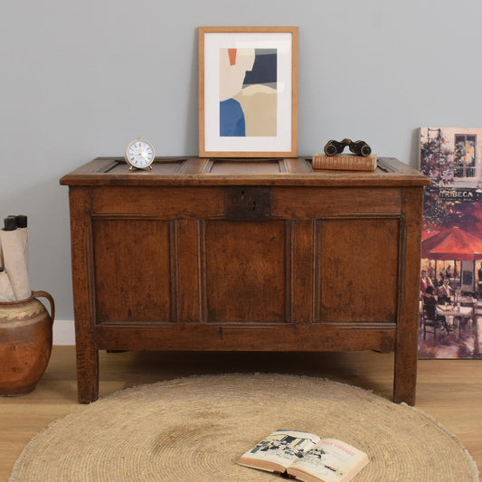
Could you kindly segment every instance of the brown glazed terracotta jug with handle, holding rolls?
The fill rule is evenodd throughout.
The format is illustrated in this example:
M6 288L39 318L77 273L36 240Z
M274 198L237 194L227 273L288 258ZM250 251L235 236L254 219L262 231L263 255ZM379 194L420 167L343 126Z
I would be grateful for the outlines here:
M47 298L51 315L37 299ZM0 395L32 392L52 352L55 305L46 291L22 301L0 302Z

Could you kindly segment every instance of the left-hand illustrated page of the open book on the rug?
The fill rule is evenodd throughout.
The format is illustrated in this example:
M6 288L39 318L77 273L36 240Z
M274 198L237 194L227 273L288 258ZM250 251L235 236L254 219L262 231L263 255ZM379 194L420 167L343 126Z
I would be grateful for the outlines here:
M312 433L276 430L246 452L240 458L239 463L271 471L287 468L291 462L302 457L307 450L312 449L319 440L320 438ZM276 468L277 466L279 468Z

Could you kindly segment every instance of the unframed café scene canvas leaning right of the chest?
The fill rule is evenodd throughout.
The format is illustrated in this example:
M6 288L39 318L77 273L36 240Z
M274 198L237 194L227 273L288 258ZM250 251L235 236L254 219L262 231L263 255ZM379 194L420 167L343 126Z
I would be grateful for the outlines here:
M482 128L421 128L420 358L482 358Z

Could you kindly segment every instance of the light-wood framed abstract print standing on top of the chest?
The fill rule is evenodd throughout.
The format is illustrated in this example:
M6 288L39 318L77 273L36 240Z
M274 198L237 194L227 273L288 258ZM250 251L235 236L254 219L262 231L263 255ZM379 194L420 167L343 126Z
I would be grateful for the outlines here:
M199 156L298 156L298 27L199 27Z

